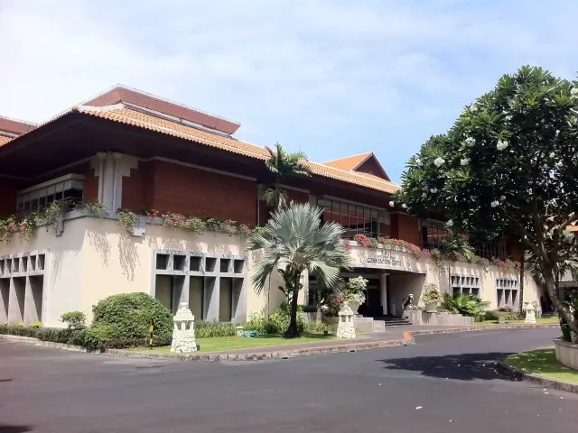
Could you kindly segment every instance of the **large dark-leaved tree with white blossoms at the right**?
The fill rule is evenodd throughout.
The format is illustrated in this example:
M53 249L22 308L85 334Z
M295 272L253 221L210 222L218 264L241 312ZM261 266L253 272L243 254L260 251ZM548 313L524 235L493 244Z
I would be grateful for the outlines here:
M578 82L524 67L424 143L397 201L418 216L447 217L473 238L508 235L534 253L576 339L578 320L560 299L558 276L578 257L576 238L564 233L578 220L577 167Z

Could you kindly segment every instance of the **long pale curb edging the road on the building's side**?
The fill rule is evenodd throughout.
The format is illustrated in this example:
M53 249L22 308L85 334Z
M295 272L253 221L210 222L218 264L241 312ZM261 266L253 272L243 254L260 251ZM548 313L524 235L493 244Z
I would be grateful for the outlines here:
M94 353L126 358L159 359L171 361L263 361L267 359L289 359L301 356L343 354L348 352L359 352L361 350L382 349L396 347L400 345L415 345L414 336L430 336L439 334L454 334L458 332L492 331L496 329L539 329L560 327L556 323L545 323L536 325L491 325L478 327L451 327L447 329L424 329L415 331L405 331L404 338L396 340L372 341L366 343L351 343L346 345L325 345L320 347L305 347L302 349L288 348L287 350L277 350L275 352L261 352L255 354L191 354L191 355L164 355L147 352L132 352L124 349L107 349L104 352L89 352L81 345L66 345L64 343L53 343L51 341L40 341L29 336L8 336L0 335L0 339L12 340L23 343L33 343L38 346L70 350L74 352ZM565 391L565 390L563 390Z

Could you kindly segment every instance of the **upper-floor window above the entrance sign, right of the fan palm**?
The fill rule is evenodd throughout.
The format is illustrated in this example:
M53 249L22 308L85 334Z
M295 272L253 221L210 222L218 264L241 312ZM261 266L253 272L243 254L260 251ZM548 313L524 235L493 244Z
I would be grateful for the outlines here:
M334 221L347 230L344 237L362 234L379 237L379 211L331 198L318 198L317 206L323 208L322 222Z

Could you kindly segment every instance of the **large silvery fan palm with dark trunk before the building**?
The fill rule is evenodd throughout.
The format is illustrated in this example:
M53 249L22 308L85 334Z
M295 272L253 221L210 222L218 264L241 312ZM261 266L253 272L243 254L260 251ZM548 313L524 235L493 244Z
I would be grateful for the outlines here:
M339 285L340 270L353 264L350 254L341 242L345 229L337 223L322 224L322 208L309 203L292 204L277 208L264 227L265 233L253 233L247 241L247 250L265 250L263 258L255 263L251 281L256 293L279 265L293 268L295 283L291 299L291 323L286 337L298 336L297 297L304 271L322 281L325 287Z

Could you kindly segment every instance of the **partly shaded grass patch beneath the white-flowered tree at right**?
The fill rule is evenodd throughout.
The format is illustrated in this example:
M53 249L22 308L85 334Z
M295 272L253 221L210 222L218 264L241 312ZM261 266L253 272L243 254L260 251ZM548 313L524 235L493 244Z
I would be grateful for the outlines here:
M548 379L578 383L578 371L556 361L554 348L510 355L506 363L524 373L538 374Z

